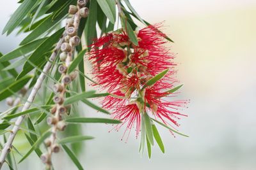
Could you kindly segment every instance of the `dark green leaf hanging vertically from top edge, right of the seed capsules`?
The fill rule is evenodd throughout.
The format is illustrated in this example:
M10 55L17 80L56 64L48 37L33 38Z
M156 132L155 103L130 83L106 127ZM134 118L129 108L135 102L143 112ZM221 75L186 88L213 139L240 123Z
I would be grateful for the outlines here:
M96 23L97 23L97 1L90 1L90 12L88 15L88 19L86 21L85 26L85 36L86 36L86 45L90 46L92 45L93 39L97 38L95 37L96 32ZM90 51L90 48L88 48L88 51Z

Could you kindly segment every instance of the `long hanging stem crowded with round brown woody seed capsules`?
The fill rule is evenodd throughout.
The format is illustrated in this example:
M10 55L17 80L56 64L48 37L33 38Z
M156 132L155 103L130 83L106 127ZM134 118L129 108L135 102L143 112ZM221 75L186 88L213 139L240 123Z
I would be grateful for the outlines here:
M61 82L56 83L53 87L56 96L53 97L54 106L52 106L50 112L51 117L47 118L47 124L52 126L52 134L49 138L45 139L45 146L48 148L48 152L42 154L41 159L47 166L47 169L51 169L51 155L52 153L58 153L60 151L60 146L56 143L56 133L58 131L64 131L67 126L63 121L63 115L69 115L70 105L64 105L65 101L65 93L66 87L70 84L77 76L76 72L72 72L70 74L67 73L68 66L70 66L72 62L72 54L74 52L74 48L76 45L79 45L80 38L77 36L77 29L79 25L79 21L81 17L84 17L84 12L87 11L88 8L86 3L88 0L78 0L77 6L70 5L68 13L70 15L74 15L72 18L68 18L66 21L66 33L64 42L61 45L61 53L60 60L62 64L58 67L58 71L61 73ZM86 17L87 17L86 15Z

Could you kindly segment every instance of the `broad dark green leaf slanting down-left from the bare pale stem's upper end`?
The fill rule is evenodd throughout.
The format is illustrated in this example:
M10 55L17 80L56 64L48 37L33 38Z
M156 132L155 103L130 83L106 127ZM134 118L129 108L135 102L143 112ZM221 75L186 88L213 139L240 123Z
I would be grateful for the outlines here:
M52 46L55 43L58 42L58 40L60 39L61 34L63 34L64 30L65 30L65 28L61 28L59 31L52 34L49 38L45 39L45 41L40 46L38 46L38 48L36 48L35 52L33 52L30 55L28 60L30 62L32 62L33 64L35 64L36 66L40 66L40 64L45 61L45 58L42 57L42 54L46 53L49 49L52 48ZM29 64L28 61L25 62L22 72L17 77L17 80L19 80L19 78L22 78L22 76L29 73L29 71L31 71L32 69L34 69L34 67L31 66L31 64Z

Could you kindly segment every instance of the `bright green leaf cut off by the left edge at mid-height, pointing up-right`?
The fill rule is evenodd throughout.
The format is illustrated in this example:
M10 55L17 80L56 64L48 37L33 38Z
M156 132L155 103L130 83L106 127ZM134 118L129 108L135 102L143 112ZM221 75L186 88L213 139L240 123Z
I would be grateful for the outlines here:
M3 99L6 99L9 96L12 96L13 92L17 92L22 89L31 78L32 76L23 76L19 80L12 83L10 86L6 87L6 89L1 90L0 101L3 101Z

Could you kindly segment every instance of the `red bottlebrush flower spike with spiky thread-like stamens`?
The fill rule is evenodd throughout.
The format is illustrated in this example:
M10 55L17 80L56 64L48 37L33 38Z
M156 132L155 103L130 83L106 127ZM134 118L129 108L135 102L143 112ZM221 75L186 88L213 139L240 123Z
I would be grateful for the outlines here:
M174 78L176 66L173 63L175 53L166 48L166 36L159 31L161 24L149 25L135 31L138 45L134 45L125 31L110 32L93 43L90 52L93 78L111 96L102 101L104 108L113 110L113 118L121 120L127 125L125 132L131 132L136 127L136 137L144 128L143 114L151 119L161 120L163 125L179 126L177 120L180 116L178 109L185 107L187 101L169 101L164 99L172 93L177 82ZM169 69L163 77L148 85L149 80L155 80L157 74ZM153 121L150 125L153 125ZM147 129L147 128L146 128ZM170 128L169 128L170 129ZM152 131L147 131L147 136ZM128 136L129 136L128 134ZM147 138L141 136L141 138Z

